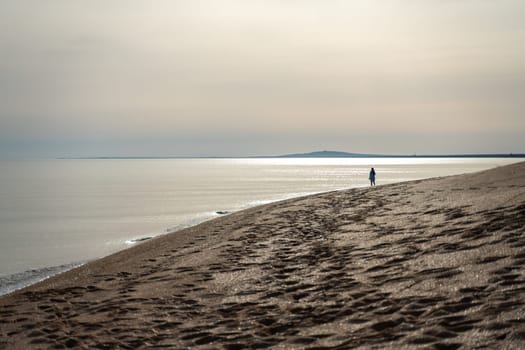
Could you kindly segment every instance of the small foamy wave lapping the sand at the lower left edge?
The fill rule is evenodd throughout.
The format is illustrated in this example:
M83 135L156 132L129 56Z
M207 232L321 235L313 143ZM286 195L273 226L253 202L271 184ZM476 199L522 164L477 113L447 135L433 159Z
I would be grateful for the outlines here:
M28 270L7 276L0 276L0 295L12 293L18 289L28 287L32 284L48 279L49 277L72 270L75 267L79 267L84 264L85 262L71 263L60 266Z

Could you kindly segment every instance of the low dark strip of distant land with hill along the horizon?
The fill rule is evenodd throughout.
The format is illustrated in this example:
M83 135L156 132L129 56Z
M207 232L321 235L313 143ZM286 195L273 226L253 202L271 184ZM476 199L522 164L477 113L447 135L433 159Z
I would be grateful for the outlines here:
M143 157L61 157L58 159L261 159L261 158L525 158L525 153L487 153L487 154L366 154L340 151L316 151L309 153L293 153L274 156L143 156Z

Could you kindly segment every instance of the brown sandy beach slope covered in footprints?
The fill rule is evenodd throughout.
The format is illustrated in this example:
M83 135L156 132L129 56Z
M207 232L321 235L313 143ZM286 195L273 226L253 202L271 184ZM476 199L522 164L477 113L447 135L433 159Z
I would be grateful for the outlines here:
M291 199L0 298L4 349L524 349L525 163Z

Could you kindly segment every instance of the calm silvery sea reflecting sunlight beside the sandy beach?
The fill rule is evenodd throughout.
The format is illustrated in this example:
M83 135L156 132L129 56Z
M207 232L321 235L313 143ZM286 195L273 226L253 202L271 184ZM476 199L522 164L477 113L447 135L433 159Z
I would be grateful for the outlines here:
M0 295L253 206L476 172L516 158L51 159L0 161Z

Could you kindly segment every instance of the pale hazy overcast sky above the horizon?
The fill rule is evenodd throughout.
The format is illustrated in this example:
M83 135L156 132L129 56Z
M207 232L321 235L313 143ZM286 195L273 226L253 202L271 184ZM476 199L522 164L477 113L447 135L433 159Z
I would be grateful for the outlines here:
M525 153L523 0L2 0L0 157Z

